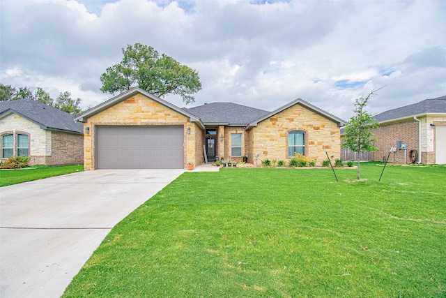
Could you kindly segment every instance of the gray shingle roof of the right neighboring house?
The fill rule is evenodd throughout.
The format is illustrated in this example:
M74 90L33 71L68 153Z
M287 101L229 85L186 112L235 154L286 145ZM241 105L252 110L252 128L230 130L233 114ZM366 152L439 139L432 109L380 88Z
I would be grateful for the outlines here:
M446 113L446 96L425 99L420 101L420 103L397 107L396 109L376 114L374 119L378 122L383 122L393 119L413 117L426 113Z

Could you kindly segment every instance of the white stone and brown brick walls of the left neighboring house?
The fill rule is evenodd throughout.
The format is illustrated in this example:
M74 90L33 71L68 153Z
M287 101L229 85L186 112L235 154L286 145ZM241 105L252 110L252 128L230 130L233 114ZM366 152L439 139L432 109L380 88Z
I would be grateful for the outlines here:
M17 135L19 133L29 136L30 165L70 165L83 161L84 141L82 135L44 130L33 121L17 114L9 114L1 119L1 135ZM17 137L14 137L13 140L15 148ZM6 158L1 158L1 161L6 161Z

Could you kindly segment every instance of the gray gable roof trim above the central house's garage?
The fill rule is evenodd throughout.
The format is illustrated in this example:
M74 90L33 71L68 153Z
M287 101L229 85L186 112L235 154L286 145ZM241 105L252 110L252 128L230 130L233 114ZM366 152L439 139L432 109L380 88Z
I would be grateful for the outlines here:
M163 100L157 96L154 96L153 94L148 93L147 91L134 87L128 91L123 92L122 94L119 94L118 96L114 96L113 98L110 98L109 100L106 100L103 103L100 103L99 105L96 105L95 107L92 107L90 110L83 112L82 114L79 114L77 117L75 117L75 121L85 122L90 117L93 117L95 114L99 114L100 112L103 112L110 107L113 107L114 105L117 105L118 103L123 102L124 100L127 100L128 98L132 98L133 96L137 94L142 94L143 96L146 96L147 98L150 98L151 100L154 100L157 103L160 103L161 105L164 105L165 107L169 107L169 109L174 110L178 112L179 114L184 115L185 117L190 118L191 122L197 122L201 128L204 129L204 125L201 122L201 119L199 117L196 117L194 114L191 114L190 112L187 112L187 110L181 109L180 107L177 107L176 105L172 105L171 103L167 102L166 100Z

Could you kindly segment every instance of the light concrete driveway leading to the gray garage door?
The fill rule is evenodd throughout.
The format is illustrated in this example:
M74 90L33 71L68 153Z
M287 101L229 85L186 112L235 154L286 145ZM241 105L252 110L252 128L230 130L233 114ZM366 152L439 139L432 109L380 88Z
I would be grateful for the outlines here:
M0 188L0 297L60 297L109 231L184 170L95 170Z

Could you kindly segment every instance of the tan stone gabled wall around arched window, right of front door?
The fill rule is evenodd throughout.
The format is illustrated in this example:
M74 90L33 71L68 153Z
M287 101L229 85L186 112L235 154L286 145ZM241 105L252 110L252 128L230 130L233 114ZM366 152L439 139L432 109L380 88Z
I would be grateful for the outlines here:
M266 158L288 162L292 157L288 156L290 131L305 132L305 156L316 160L316 165L327 159L324 149L330 156L340 157L341 135L337 123L297 104L261 121L249 131L247 148L252 153L249 162L254 161L255 154L259 154L258 163Z

